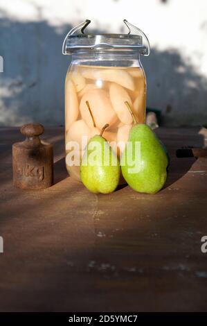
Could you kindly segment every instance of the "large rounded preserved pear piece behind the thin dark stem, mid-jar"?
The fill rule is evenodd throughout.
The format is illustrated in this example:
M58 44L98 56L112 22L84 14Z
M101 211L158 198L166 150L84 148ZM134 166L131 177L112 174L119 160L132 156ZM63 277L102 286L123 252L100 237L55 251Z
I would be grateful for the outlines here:
M106 123L111 125L116 121L116 112L114 112L114 109L111 106L107 92L103 89L92 89L84 94L80 101L80 113L82 119L84 119L90 128L93 127L93 121L87 108L86 101L90 103L91 112L96 121L96 126L99 129L102 129Z

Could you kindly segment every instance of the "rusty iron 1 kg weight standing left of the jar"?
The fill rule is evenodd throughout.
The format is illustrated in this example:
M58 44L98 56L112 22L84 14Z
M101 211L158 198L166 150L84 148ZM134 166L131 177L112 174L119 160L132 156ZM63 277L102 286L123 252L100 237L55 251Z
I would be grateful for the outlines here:
M21 189L44 189L53 185L53 145L39 139L44 126L21 127L24 141L12 145L13 184Z

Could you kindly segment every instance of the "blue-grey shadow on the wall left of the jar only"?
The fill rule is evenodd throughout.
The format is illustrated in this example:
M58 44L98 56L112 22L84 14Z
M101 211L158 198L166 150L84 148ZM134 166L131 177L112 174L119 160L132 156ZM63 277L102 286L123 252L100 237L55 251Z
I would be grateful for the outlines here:
M28 121L60 125L64 121L64 78L69 56L62 55L64 35L41 22L0 19L0 125Z

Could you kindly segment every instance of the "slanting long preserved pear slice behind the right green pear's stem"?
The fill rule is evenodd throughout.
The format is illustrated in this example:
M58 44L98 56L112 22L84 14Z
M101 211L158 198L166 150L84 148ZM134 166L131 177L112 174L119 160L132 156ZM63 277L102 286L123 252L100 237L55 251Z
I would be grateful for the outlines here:
M127 91L120 85L111 83L109 87L109 95L114 111L118 115L118 119L125 124L131 124L133 122L132 115L125 105L127 101L132 105L132 100L129 97Z

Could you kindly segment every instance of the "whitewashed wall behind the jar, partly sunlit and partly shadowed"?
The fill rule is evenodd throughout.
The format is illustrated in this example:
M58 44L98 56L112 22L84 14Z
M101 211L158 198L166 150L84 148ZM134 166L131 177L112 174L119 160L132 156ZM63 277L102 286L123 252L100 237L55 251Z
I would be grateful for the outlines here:
M89 31L125 33L124 18L142 28L152 45L147 105L168 125L207 123L206 0L12 0L0 3L1 125L63 123L62 40L86 18Z

